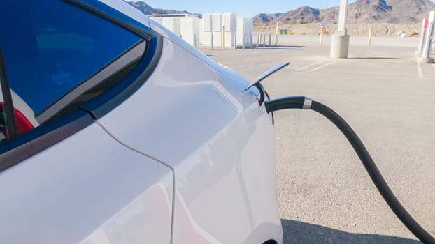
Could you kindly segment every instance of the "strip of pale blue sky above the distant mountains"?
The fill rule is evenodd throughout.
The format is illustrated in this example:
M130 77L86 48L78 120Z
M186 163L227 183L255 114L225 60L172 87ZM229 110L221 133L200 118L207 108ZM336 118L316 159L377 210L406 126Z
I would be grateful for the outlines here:
M132 1L132 0L129 0ZM134 0L139 1L139 0ZM258 13L280 13L301 6L328 8L339 6L340 0L140 0L152 8L187 10L190 13L238 13L239 16L253 17ZM356 0L348 0L353 3Z

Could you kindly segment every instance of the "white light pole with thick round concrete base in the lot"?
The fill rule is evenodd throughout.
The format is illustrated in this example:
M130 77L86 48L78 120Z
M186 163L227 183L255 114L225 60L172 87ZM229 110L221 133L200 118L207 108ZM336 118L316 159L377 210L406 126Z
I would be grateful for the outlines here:
M348 0L340 0L340 13L338 15L338 28L331 38L331 58L347 59L349 52L349 35L346 29L346 14Z

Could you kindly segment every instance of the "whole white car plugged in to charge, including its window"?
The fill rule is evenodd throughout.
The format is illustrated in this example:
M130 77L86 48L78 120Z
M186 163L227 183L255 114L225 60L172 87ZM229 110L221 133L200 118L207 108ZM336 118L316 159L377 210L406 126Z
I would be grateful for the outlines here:
M0 31L0 243L282 243L262 91L120 0Z

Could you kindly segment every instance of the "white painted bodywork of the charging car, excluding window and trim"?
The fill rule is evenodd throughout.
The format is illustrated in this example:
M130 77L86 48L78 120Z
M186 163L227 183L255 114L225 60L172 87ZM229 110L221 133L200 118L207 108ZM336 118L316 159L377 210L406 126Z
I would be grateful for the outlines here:
M257 89L128 3L101 3L161 36L157 66L110 112L0 172L0 243L282 243Z

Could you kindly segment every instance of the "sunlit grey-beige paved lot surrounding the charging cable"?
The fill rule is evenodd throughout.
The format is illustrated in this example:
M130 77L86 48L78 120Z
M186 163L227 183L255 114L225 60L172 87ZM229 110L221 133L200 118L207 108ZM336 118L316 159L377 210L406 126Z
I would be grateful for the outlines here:
M329 59L329 40L292 36L263 49L203 49L272 98L304 95L341 114L408 211L435 235L435 66L418 65L418 38L351 37L349 59ZM283 43L285 41L285 43ZM377 192L334 125L310 111L276 112L276 178L285 243L419 243Z

